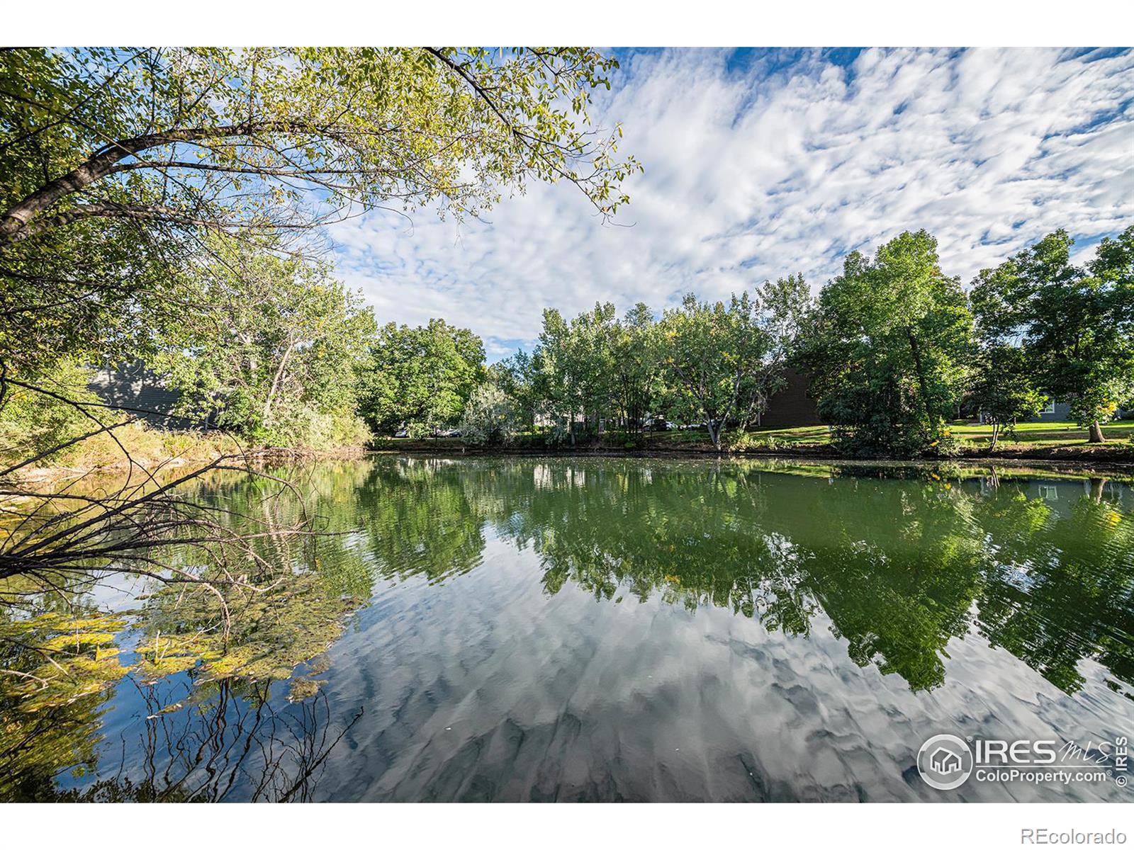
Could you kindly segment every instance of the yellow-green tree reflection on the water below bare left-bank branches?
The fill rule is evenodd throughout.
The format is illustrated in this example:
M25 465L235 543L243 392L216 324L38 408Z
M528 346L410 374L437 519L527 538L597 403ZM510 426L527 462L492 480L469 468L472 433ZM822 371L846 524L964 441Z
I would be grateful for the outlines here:
M223 516L232 522L263 510L313 512L345 495L319 476L303 483L302 503L246 476L217 478L196 495L228 505ZM335 524L329 516L320 521ZM121 615L92 605L85 590L99 579L94 573L69 575L53 587L29 577L0 586L0 799L223 799L234 788L242 799L310 793L306 765L321 763L332 746L319 722L328 709L315 679L325 666L315 656L369 598L372 576L342 535L263 534L247 542L239 563L223 551L201 558L195 546L171 547L167 556L177 567L206 579L225 569L242 580L155 585L136 612ZM296 702L284 712L268 700L280 680L290 680ZM162 702L170 682L186 694ZM139 740L149 755L142 767L107 779L105 705L132 685L145 691L152 715ZM124 741L122 751L139 748ZM253 784L234 785L238 773Z

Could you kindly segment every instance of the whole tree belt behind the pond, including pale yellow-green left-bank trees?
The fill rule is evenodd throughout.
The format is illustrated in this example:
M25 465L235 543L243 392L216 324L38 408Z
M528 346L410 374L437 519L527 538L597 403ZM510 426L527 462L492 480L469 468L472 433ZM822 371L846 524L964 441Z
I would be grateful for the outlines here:
M1102 423L1134 407L1134 228L1103 239L1084 266L1070 263L1072 245L1051 233L966 294L933 237L905 232L873 258L847 256L818 298L789 274L727 301L691 294L660 313L596 304L568 321L549 308L531 351L488 366L469 330L440 318L379 326L325 264L218 240L193 313L137 354L178 391L179 415L256 445L449 428L469 442L535 432L575 444L670 420L703 426L720 448L759 422L789 366L810 376L849 451L948 454L947 423L963 410L997 437L1050 398L1069 401L1098 441ZM56 360L50 372L60 394L83 396L88 369ZM84 418L17 388L0 423L9 445L16 432L53 445Z

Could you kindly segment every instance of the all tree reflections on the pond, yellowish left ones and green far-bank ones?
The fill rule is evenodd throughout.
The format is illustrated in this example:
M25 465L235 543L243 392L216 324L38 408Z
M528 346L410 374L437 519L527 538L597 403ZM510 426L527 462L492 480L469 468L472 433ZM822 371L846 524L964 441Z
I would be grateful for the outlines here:
M115 652L120 630L85 609L83 594L19 595L9 584L26 615L6 609L0 666L26 675L0 679L0 799L310 796L318 770L307 768L341 725L316 692L320 663L303 662L338 637L375 575L467 573L489 529L531 547L549 594L569 584L599 600L659 596L798 636L826 619L855 663L898 673L914 690L943 682L947 644L976 630L1067 692L1083 686L1081 662L1095 658L1128 695L1134 524L1116 501L1125 490L1085 487L1074 502L1047 503L1010 478L801 471L515 458L289 470L304 493L294 510L330 534L255 539L261 556L239 569L260 592L228 587L223 606L200 586L158 590L142 604L128 662ZM268 499L279 511L281 499L263 487L226 478L211 493L234 516ZM286 570L263 571L268 563ZM35 683L52 662L25 648L28 623L39 630L33 645L68 647L52 657L73 674L50 691ZM290 680L294 704L279 685L268 698L277 680ZM103 711L133 687L153 715L134 748L146 756L116 770ZM175 699L174 688L184 694Z

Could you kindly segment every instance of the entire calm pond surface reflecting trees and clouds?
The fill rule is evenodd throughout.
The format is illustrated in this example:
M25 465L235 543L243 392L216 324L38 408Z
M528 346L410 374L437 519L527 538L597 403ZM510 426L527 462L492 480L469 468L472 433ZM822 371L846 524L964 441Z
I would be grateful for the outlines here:
M1134 490L1095 475L296 468L330 534L279 544L288 583L223 647L184 588L34 612L42 640L93 647L92 683L0 698L0 797L1131 800L1107 742L1134 732ZM940 733L1070 743L1110 774L934 790L916 759Z

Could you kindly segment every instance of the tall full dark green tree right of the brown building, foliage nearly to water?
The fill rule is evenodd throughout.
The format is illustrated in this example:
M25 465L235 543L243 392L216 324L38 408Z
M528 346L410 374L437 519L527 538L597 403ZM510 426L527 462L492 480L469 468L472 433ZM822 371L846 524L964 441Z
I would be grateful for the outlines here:
M803 360L819 414L858 450L921 452L947 442L972 356L972 314L924 230L847 256L819 297Z

